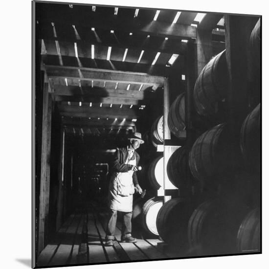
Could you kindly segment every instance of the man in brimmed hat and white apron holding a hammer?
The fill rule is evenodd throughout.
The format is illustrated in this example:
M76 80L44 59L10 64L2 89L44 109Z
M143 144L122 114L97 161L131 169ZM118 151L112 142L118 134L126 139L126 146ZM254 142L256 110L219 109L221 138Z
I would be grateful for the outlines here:
M123 222L121 229L121 242L135 243L132 236L132 211L134 191L142 193L138 184L136 171L139 155L135 151L144 141L140 133L128 137L126 147L116 150L112 163L112 177L109 186L109 221L107 226L106 246L113 246L117 211L122 212Z

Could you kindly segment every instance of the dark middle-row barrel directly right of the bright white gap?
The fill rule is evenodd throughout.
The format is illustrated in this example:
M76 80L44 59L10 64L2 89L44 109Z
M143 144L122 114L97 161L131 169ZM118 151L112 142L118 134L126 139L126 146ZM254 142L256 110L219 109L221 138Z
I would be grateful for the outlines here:
M178 188L189 185L189 150L186 147L178 148L167 162L169 180Z

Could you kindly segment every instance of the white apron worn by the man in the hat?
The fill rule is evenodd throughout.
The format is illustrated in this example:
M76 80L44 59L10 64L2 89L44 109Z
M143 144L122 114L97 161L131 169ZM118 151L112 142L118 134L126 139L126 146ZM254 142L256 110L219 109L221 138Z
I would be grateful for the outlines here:
M136 159L134 155L134 160L126 160L127 164L136 165ZM124 182L125 186L133 185L133 173L134 171L128 171L126 173L116 173L113 174L110 180L109 186L109 208L122 212L132 212L133 211L133 194L128 196L118 195L118 184ZM119 180L120 179L120 180Z

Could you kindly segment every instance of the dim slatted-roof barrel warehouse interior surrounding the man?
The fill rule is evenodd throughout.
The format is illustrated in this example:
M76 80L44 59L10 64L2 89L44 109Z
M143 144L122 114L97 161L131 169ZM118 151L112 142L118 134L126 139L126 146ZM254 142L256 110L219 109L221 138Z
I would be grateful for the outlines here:
M261 16L32 4L36 266L260 253ZM137 242L106 247L136 132Z

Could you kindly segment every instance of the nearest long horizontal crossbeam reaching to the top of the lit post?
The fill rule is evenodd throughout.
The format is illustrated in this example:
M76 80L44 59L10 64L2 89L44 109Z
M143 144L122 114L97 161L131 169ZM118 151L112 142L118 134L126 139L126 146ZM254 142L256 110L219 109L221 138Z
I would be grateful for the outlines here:
M145 73L102 70L85 67L45 66L48 77L70 78L80 80L109 81L118 83L144 84L160 87L163 78Z

